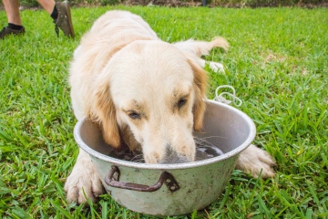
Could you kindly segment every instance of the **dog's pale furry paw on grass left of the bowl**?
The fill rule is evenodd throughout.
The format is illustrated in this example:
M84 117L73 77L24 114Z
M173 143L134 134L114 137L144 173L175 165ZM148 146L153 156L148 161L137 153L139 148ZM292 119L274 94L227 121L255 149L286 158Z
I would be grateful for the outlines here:
M80 150L77 163L68 176L64 189L69 203L86 203L87 199L95 202L97 197L104 193L97 171L85 151Z

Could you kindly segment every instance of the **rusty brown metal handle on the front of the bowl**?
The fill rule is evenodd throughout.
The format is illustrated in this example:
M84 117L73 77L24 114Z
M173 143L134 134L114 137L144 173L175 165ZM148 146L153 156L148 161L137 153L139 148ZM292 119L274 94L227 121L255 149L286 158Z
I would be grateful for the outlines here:
M169 172L162 172L159 176L159 182L154 185L118 182L118 178L119 169L117 166L113 165L110 171L108 172L108 175L105 177L105 183L107 183L109 186L139 192L154 192L159 190L163 183L165 183L168 186L170 192L176 192L177 190L179 190L178 183L176 182L174 177L169 174Z

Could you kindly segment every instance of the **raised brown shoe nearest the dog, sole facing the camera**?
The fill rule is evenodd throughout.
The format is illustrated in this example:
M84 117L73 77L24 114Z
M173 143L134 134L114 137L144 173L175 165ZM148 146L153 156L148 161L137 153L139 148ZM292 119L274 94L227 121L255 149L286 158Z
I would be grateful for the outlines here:
M56 9L58 11L58 17L54 21L56 35L59 36L59 27L61 30L63 30L66 36L74 38L75 34L68 2L65 1L56 3Z

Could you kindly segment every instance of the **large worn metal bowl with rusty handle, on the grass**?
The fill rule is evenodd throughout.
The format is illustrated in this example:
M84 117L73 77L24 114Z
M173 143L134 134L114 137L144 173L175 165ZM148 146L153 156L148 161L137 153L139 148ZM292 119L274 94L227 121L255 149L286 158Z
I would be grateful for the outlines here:
M112 149L89 120L78 121L74 130L111 197L132 211L153 215L189 214L215 201L255 133L254 123L241 110L207 100L203 130L194 134L224 154L199 162L147 164L109 157Z

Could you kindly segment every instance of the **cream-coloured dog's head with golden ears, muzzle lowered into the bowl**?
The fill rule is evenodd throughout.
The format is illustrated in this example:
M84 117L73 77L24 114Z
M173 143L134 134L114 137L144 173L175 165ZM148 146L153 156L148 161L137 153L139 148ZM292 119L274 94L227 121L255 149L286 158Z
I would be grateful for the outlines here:
M192 131L202 127L206 72L178 48L136 41L111 58L97 78L90 115L105 141L141 146L148 163L192 162Z

